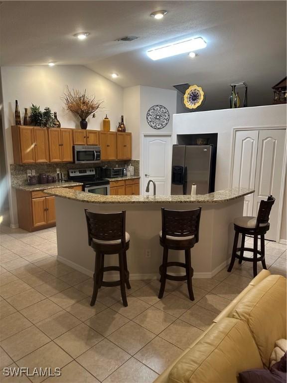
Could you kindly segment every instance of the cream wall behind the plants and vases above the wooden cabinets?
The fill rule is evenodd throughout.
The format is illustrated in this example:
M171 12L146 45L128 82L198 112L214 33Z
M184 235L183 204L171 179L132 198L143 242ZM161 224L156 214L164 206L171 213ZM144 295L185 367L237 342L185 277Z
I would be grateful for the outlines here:
M75 88L81 91L86 89L88 94L95 94L97 99L104 100L104 109L97 114L97 117L88 118L88 128L100 129L107 113L111 119L111 130L116 131L124 111L123 88L81 65L59 65L52 68L49 66L2 67L1 79L10 215L11 224L16 224L16 199L14 191L10 190L9 171L9 164L13 163L10 126L14 124L15 99L19 102L22 119L24 107L30 107L33 103L40 105L41 109L49 106L52 111L57 111L63 128L79 128L79 119L71 112L64 110L61 96L66 85L70 89Z

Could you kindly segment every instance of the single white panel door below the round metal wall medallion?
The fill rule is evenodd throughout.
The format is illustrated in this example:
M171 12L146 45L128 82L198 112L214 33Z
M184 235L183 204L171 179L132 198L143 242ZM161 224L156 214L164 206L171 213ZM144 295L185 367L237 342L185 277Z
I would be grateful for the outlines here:
M145 136L143 143L143 194L153 194L150 184L145 192L147 182L153 180L156 195L170 194L171 137Z

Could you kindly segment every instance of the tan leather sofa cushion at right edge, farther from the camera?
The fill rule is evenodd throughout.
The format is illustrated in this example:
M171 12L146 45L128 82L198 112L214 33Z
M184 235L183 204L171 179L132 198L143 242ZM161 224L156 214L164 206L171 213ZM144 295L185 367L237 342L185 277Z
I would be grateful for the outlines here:
M286 339L286 278L270 275L255 286L230 315L249 326L262 362L269 368L278 339Z

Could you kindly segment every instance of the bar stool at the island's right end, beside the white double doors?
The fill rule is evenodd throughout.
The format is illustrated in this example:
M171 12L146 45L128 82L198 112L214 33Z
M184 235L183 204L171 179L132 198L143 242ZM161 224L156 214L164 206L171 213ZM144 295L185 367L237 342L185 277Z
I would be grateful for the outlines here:
M239 259L238 263L240 264L242 261L253 262L254 277L257 275L257 262L262 262L263 268L267 269L265 263L265 234L270 228L269 215L274 202L275 198L269 195L266 201L261 200L257 217L243 216L234 219L234 243L231 261L227 271L230 272L232 270L236 258ZM237 247L239 233L241 233L241 247ZM245 247L246 235L254 237L253 248ZM258 250L258 236L260 236L261 250ZM240 251L239 254L237 253L238 251ZM245 257L244 251L253 252L253 258ZM260 255L260 257L257 255Z

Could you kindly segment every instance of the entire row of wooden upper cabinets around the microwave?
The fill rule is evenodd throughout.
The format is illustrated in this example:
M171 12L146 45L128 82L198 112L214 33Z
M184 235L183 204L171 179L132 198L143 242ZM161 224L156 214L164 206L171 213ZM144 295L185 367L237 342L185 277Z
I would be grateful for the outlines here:
M73 162L73 145L99 145L101 160L131 160L132 134L98 130L11 127L14 164Z

